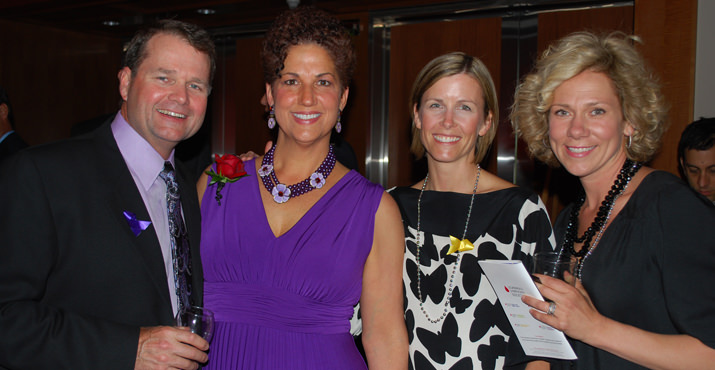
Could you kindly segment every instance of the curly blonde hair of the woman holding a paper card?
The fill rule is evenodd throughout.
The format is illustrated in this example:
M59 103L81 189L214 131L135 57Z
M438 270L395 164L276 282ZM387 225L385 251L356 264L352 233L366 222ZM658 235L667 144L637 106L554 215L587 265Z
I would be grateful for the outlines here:
M532 156L549 165L559 165L549 145L548 119L554 90L564 81L591 70L611 79L623 118L634 129L631 145L626 148L627 157L644 162L653 157L667 128L667 107L658 81L634 42L640 39L622 32L605 36L576 32L543 53L534 70L516 88L510 114L514 131L527 143Z

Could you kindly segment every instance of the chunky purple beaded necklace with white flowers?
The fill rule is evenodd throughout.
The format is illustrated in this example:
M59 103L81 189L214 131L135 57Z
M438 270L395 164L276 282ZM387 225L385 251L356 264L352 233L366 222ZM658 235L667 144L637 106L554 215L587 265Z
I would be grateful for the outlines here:
M273 153L275 153L275 151L276 145L273 145L271 150L263 156L258 174L261 176L263 186L273 195L273 200L279 204L287 202L290 198L299 197L313 189L322 188L335 167L335 153L331 145L323 163L320 164L318 169L315 170L310 177L293 185L281 184L280 181L278 181L278 177L276 177L276 172L273 171Z

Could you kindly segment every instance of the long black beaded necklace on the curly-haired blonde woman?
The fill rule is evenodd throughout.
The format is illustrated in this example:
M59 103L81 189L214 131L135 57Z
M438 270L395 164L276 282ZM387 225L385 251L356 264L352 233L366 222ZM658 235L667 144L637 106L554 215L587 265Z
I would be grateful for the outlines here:
M571 210L562 247L562 253L566 250L578 259L578 265L575 270L577 277L580 277L581 267L583 266L583 261L585 260L584 257L591 252L591 240L593 239L593 236L596 233L599 233L599 235L601 234L603 227L611 215L616 199L618 199L621 193L623 193L625 188L628 186L628 183L642 166L642 162L634 162L630 159L626 159L623 163L623 167L621 167L618 177L613 182L613 186L611 186L611 190L608 191L606 198L603 199L603 202L601 202L601 206L598 208L598 213L593 219L591 226L586 229L583 236L579 237L576 234L578 232L578 215L581 212L583 203L586 201L586 194L583 190L581 191L581 196ZM583 245L581 246L581 249L577 251L574 248L574 243L583 243Z

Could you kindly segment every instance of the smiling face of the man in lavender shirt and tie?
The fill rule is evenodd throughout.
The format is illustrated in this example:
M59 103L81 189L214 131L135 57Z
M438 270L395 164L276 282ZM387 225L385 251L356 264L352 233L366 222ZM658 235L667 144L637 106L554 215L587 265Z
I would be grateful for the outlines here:
M134 76L132 76L134 72ZM210 92L210 60L184 39L153 36L146 58L119 72L122 115L165 159L201 128Z

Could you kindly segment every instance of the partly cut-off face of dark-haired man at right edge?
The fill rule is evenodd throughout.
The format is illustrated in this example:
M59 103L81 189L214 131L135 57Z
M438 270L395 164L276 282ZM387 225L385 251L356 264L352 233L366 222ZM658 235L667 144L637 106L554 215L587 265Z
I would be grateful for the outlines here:
M690 186L715 202L715 146L686 150L681 165Z

